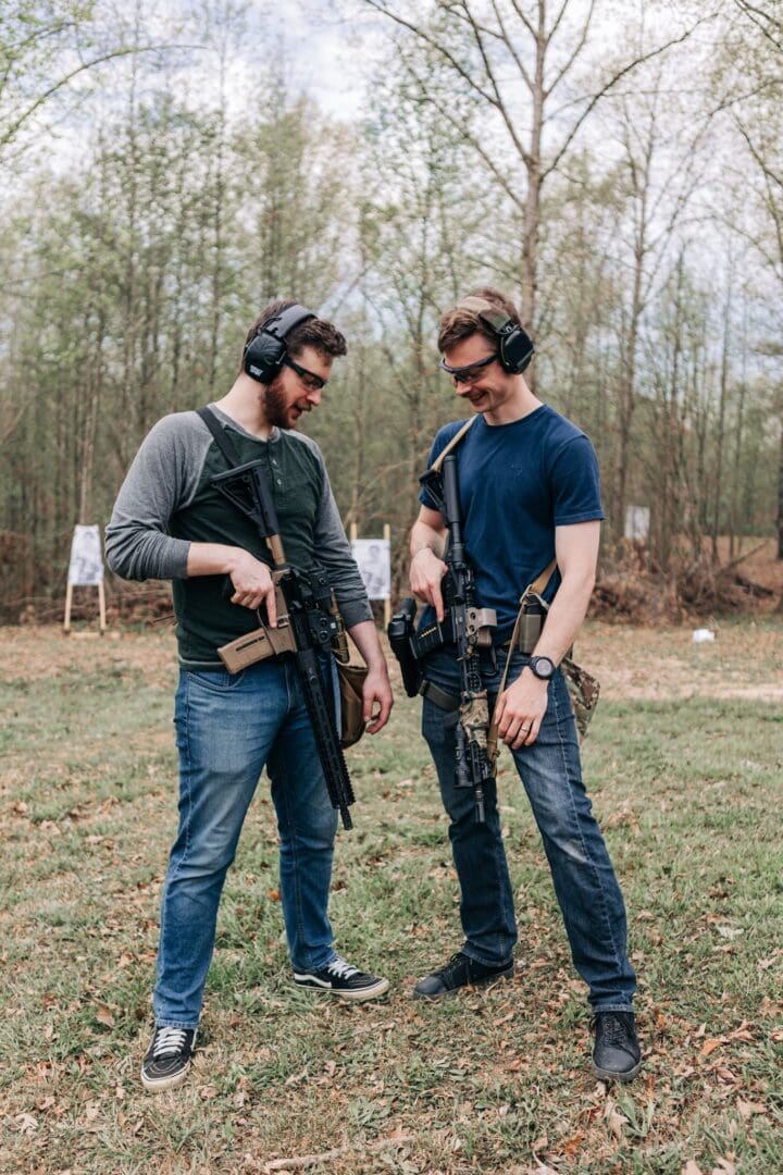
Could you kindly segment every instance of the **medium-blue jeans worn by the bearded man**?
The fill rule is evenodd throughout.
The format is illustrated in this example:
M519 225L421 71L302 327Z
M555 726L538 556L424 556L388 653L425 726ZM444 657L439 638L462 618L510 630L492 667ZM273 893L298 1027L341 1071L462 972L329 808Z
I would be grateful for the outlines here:
M154 1007L157 1026L195 1028L223 882L264 766L295 971L318 971L336 956L326 907L337 813L289 658L235 674L182 670L174 721L180 828L163 887Z

